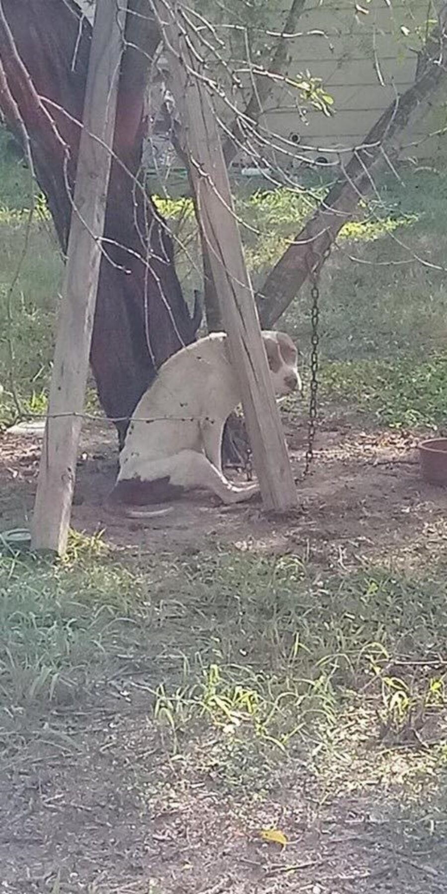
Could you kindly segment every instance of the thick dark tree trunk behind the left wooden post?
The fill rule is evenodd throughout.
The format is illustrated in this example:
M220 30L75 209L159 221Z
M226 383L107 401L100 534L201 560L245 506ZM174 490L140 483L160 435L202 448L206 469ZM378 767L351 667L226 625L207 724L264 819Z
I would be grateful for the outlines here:
M72 0L2 0L2 6L0 59L30 135L38 182L65 251L91 28L86 19L81 21ZM139 15L143 6L145 14ZM114 419L131 415L156 367L195 334L173 266L172 240L135 179L144 136L148 68L159 34L148 20L145 0L131 0L130 9L115 130L117 160L105 216L104 249L110 260L103 257L101 262L91 349L99 398L107 416ZM144 53L135 45L144 46ZM0 107L21 139L1 94ZM117 427L122 434L125 423L118 422Z

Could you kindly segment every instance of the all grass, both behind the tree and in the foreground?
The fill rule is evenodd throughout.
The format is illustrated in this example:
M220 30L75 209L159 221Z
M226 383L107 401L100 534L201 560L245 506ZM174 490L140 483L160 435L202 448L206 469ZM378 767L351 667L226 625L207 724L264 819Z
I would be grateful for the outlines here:
M323 413L335 403L355 411L362 427L372 421L442 430L447 175L409 169L402 178L404 185L391 177L380 182L379 198L345 226L321 277ZM17 402L25 414L46 409L63 267L40 205L11 292L31 197L27 173L1 139L0 184L0 425L6 425L18 414ZM314 182L300 193L238 190L257 286L325 189ZM178 237L178 269L189 293L199 285L190 203L164 198L158 204ZM181 243L188 244L188 257ZM283 325L306 364L307 293ZM430 810L435 805L435 822L443 822L442 542L440 536L430 561L418 568L414 561L408 573L394 567L391 553L377 564L361 545L348 566L342 558L330 564L326 554L309 558L305 543L291 554L270 555L253 544L242 551L211 538L198 554L168 544L164 553L136 556L131 547L118 551L102 536L75 532L61 563L5 553L5 759L13 761L47 730L53 735L57 728L60 737L69 730L72 741L78 721L67 726L61 718L129 710L150 754L159 755L146 789L148 770L132 744L139 797L148 790L151 804L160 798L165 805L173 789L184 792L189 784L192 799L197 786L238 804L265 804L267 796L287 790L288 773L303 772L304 786L317 789L316 812L334 793L357 798L373 790L396 811L406 801L420 810L422 799ZM404 781L397 784L399 774Z

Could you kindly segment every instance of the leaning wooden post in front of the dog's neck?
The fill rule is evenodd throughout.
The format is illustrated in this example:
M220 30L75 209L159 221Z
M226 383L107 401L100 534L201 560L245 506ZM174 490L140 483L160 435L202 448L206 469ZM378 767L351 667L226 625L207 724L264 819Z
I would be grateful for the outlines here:
M198 71L198 57L191 49L193 36L189 35L188 41L183 38L181 8L177 0L171 2L173 5L169 0L152 0L170 59L171 89L185 132L232 363L239 375L257 477L266 510L287 511L296 507L297 492L234 215L215 111Z

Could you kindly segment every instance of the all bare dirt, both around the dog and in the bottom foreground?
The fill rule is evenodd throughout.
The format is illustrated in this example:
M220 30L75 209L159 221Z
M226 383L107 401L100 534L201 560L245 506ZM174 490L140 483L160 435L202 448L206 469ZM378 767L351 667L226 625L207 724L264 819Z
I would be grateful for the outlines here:
M304 426L290 426L288 437L299 476ZM228 543L326 567L345 569L361 556L411 569L429 564L447 536L447 493L421 481L414 448L410 435L362 432L332 417L321 426L314 472L299 484L299 510L289 519L266 519L254 505L223 509L201 495L166 518L137 522L104 509L114 437L89 431L72 524L104 530L117 549L136 553ZM27 523L39 449L29 437L2 437L2 529ZM357 790L350 788L349 756L344 763L340 756L338 781L284 757L268 796L235 797L215 738L198 731L176 754L154 730L141 671L108 681L86 704L36 717L34 730L2 762L0 888L8 894L447 890L447 848L438 831L445 821L433 831L431 807L424 823L401 807L407 771L399 750L388 755L383 778L377 770L369 778L366 763ZM363 747L367 755L367 737ZM287 830L287 848L259 839L259 829L271 825Z

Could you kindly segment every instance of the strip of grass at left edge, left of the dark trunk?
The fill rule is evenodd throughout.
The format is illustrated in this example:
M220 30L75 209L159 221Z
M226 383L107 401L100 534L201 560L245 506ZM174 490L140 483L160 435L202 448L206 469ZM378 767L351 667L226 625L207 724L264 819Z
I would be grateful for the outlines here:
M0 176L1 426L17 417L18 403L24 413L45 408L63 263L45 203L4 131Z

